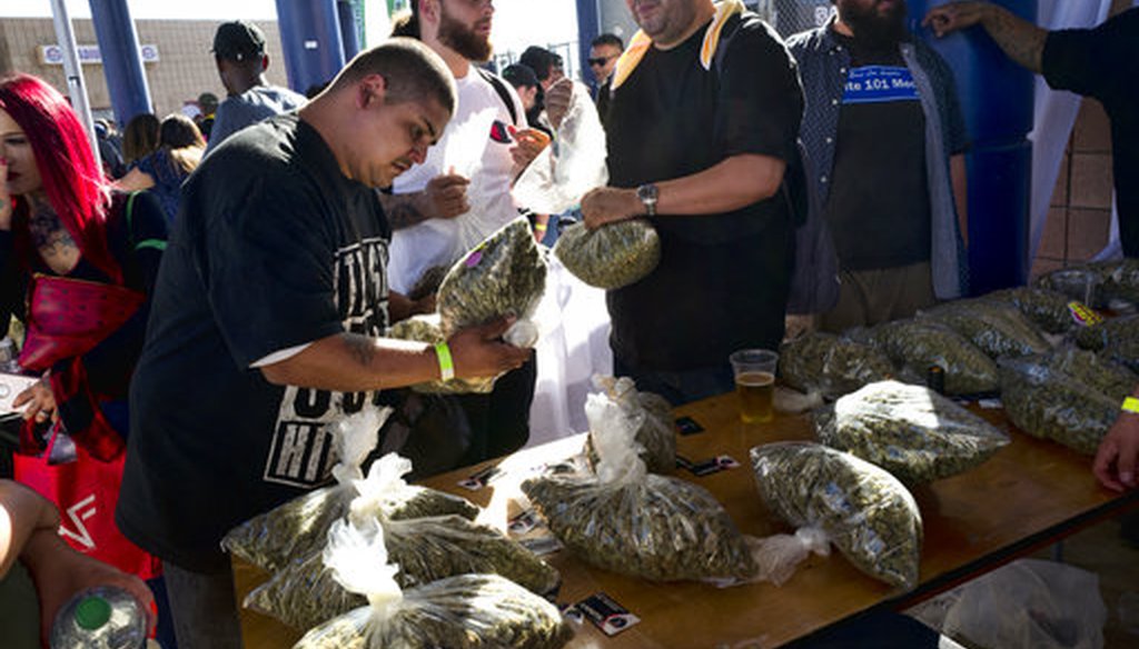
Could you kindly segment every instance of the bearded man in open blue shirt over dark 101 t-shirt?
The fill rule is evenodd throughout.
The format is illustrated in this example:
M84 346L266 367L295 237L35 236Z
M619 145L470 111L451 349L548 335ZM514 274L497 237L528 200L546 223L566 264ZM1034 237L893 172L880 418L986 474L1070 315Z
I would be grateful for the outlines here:
M835 0L787 39L806 92L803 143L838 256L839 332L965 290L965 120L952 74L906 28L906 3Z

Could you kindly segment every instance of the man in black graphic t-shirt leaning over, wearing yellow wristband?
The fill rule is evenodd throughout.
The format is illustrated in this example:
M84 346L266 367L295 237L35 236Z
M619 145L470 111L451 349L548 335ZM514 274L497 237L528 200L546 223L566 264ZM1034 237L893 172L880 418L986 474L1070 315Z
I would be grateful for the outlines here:
M391 232L375 189L424 159L454 105L442 59L392 39L300 113L227 139L183 188L116 511L165 562L183 649L240 647L219 542L329 480L334 424L380 389L495 376L530 355L495 342L506 322L434 347L380 338Z

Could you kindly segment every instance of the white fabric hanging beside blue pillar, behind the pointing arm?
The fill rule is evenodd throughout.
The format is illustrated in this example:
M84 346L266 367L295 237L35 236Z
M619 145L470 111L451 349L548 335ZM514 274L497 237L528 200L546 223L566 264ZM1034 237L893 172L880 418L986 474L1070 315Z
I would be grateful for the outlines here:
M1048 30L1091 27L1103 23L1111 8L1112 0L1039 0L1036 24ZM1035 128L1029 135L1032 140L1032 207L1029 221L1029 250L1032 260L1036 258L1040 239L1044 233L1048 205L1064 161L1064 149L1080 112L1080 101L1079 95L1052 90L1042 76L1036 76ZM1117 219L1117 214L1112 219L1112 243L1099 253L1104 258L1112 255L1113 246L1115 256L1121 256Z

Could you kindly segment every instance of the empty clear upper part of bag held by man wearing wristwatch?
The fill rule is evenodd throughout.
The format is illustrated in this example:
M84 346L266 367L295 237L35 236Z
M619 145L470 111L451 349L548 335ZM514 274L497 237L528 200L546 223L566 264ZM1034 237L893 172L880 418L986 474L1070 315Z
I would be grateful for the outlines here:
M572 210L587 191L608 182L605 157L605 129L597 108L589 98L589 90L574 83L570 107L554 142L514 183L514 198L540 214L562 214Z

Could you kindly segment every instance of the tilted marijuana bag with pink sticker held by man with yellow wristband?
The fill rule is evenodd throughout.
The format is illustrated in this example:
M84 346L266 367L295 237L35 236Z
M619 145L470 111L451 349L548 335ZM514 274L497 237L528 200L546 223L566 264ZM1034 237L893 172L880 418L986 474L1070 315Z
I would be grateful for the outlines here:
M435 302L443 336L508 315L525 321L546 290L546 271L530 222L519 216L503 225L443 278Z

